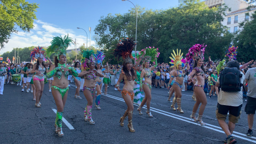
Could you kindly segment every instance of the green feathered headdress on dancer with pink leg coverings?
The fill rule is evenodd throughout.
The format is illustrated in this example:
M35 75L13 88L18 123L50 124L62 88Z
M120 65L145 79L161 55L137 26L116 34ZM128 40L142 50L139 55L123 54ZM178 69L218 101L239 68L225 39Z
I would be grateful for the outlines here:
M93 57L94 51L86 50L82 52L83 58L82 58L82 70L88 70L91 66L91 62L95 63L95 59Z

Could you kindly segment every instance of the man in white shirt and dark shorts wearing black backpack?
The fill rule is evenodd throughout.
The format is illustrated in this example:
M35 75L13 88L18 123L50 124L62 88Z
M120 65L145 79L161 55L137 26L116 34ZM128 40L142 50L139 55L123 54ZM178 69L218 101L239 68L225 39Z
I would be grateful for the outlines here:
M241 85L241 73L237 61L229 61L227 67L221 72L216 86L220 86L216 117L221 129L226 133L225 143L236 143L232 136L235 124L241 114L243 92ZM225 122L229 113L229 122Z

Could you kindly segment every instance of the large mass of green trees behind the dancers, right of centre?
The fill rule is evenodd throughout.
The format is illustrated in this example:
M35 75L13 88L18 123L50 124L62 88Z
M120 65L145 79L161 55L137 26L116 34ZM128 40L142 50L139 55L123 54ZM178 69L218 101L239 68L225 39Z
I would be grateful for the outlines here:
M220 59L225 55L233 34L221 25L223 13L228 9L223 6L209 9L199 0L182 1L178 7L168 10L145 10L137 6L138 29L137 51L148 46L159 48L158 62L170 61L172 50L181 49L186 53L189 47L200 43L207 45L205 57ZM109 14L102 17L95 28L97 44L111 57L111 52L122 37L135 38L136 11L132 9L123 15Z

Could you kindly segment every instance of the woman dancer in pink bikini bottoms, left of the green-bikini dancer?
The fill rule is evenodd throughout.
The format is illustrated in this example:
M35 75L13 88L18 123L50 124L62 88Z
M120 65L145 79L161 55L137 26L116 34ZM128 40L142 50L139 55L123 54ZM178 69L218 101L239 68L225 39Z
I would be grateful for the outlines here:
M41 98L44 91L44 72L45 66L51 65L52 61L47 57L49 60L48 63L43 63L46 61L45 59L45 50L43 47L37 46L31 51L30 57L34 60L37 59L36 64L31 71L32 74L36 73L33 77L33 82L36 87L36 103L35 106L40 108L41 107Z

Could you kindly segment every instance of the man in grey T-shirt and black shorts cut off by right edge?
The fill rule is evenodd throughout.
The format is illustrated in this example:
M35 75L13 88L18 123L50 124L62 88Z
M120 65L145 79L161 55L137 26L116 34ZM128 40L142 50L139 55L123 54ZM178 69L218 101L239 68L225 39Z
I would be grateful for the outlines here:
M252 126L253 117L256 110L256 68L250 68L245 74L245 83L248 86L247 92L247 103L245 105L244 111L246 112L248 119L249 130L246 135L249 137L253 136Z

